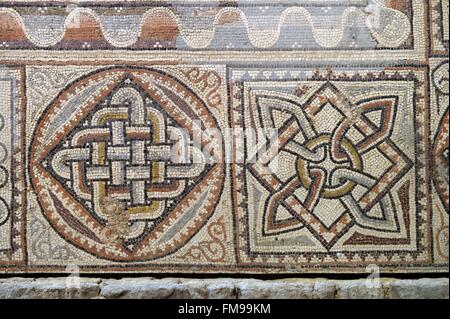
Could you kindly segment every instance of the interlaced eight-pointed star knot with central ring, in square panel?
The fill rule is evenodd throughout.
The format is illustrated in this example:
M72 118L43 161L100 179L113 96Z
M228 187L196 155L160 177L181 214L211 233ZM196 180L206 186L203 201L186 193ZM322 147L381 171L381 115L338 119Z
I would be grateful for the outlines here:
M279 151L293 154L297 168L295 176L283 181L270 170L271 161L277 156L270 149L248 165L271 193L263 221L266 235L297 225L306 227L326 249L331 249L354 225L383 232L400 231L390 190L413 163L391 139L396 96L352 103L327 82L303 105L270 95L258 96L257 101L262 117L268 119L267 126L276 126L275 113L283 113L278 131ZM330 118L328 129L315 125L322 112L338 115ZM380 165L389 163L376 176L365 169L364 158L369 152L379 157ZM354 191L357 186L364 189L362 195ZM318 214L323 210L321 203L326 201L338 201L344 207L332 223ZM381 213L371 213L374 207ZM277 220L280 209L294 218Z

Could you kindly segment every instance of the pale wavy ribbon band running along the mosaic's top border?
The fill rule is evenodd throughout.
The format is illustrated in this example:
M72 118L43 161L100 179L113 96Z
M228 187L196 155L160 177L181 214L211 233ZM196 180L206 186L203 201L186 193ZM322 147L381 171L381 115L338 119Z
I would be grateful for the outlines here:
M0 8L0 21L16 24L22 29L26 39L37 47L52 47L64 41L67 30L73 27L74 21L81 17L95 21L101 31L101 35L110 45L117 48L127 48L135 45L143 37L145 28L157 28L157 21L161 17L172 24L178 31L177 36L191 49L206 49L210 47L218 35L218 28L227 17L232 16L231 23L245 27L249 43L259 49L270 49L276 46L282 35L284 27L296 28L309 26L311 34L317 45L323 48L337 48L341 43L347 27L359 19L364 22L372 38L379 47L396 48L405 43L411 33L408 17L395 9L386 7L380 1L375 0L376 14L367 8L348 7L340 14L340 19L331 27L318 26L314 17L305 7L288 7L281 12L279 17L274 17L273 27L260 28L252 24L248 15L240 8L221 8L215 11L210 24L203 27L192 27L183 22L183 19L169 8L155 7L148 9L144 14L133 17L135 23L130 23L125 29L123 24L105 23L104 17L91 8L77 7L71 10L65 17L53 20L51 28L45 23L42 16L28 23L29 16L20 15L15 9ZM39 22L39 18L42 20ZM114 17L113 17L114 18ZM278 19L278 21L275 21ZM378 20L377 20L378 19ZM377 20L377 21L375 21ZM375 21L375 23L374 23ZM230 22L229 22L230 23ZM0 24L1 26L1 24ZM45 32L44 32L45 31Z

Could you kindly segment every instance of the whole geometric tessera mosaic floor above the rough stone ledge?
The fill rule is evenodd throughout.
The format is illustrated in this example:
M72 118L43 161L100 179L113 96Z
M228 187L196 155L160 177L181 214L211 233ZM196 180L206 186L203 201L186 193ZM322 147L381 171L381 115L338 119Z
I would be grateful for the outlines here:
M0 1L0 273L448 272L448 11Z

